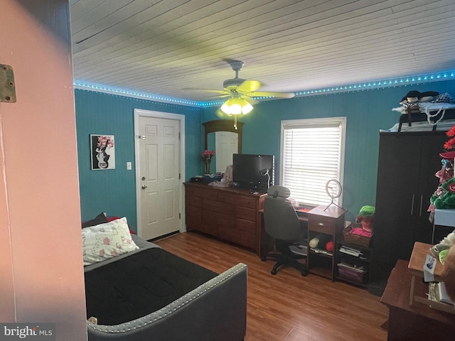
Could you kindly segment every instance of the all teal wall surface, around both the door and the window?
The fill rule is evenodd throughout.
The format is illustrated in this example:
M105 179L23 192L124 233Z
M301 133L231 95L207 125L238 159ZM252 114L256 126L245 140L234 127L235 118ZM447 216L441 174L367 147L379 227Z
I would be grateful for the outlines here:
M400 100L410 90L449 92L453 96L455 81L262 102L241 118L244 122L242 152L274 154L275 183L278 184L282 120L347 117L343 207L348 209L347 219L355 220L360 207L375 205L379 130L389 129L397 123L400 114L392 112L392 108L400 107ZM184 177L189 180L203 172L200 159L203 151L202 122L219 119L215 108L195 109L85 90L75 90L75 103L82 220L107 212L108 215L126 216L132 228L136 229L135 108L184 114ZM90 170L90 134L115 135L115 170ZM126 170L127 161L132 161L132 171Z

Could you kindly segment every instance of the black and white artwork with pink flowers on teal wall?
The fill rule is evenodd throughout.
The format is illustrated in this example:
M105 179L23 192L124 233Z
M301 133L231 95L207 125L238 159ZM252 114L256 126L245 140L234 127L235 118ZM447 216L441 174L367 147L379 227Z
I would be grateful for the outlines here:
M115 169L114 135L90 134L92 171Z

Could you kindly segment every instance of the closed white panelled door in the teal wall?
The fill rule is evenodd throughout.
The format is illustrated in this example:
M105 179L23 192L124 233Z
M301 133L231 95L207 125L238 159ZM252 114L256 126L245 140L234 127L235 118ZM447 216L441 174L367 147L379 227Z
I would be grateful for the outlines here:
M139 116L139 236L176 232L180 227L180 121ZM139 212L138 211L138 212Z

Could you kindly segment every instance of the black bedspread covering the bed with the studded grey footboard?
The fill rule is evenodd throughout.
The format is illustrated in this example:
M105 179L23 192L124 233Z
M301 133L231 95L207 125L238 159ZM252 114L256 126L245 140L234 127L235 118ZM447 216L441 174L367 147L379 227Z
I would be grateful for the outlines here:
M117 325L153 313L217 276L159 248L85 273L87 318Z

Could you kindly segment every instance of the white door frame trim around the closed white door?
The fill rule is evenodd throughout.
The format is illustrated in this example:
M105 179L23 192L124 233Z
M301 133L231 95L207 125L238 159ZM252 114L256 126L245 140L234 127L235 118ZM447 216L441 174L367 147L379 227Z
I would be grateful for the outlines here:
M155 112L153 110L146 110L146 109L134 109L134 167L136 170L135 175L135 184L136 184L136 216L137 216L137 234L141 236L142 232L142 222L141 222L141 190L138 185L138 180L141 176L139 173L140 171L140 160L139 160L139 117L151 117L156 119L173 119L177 120L179 123L180 129L180 139L179 139L179 174L180 179L178 180L180 186L180 197L178 198L180 209L178 212L180 219L179 219L179 226L178 229L180 232L185 232L185 215L182 215L182 207L184 207L184 191L183 191L183 182L185 179L185 115L182 114L171 114L168 112Z

